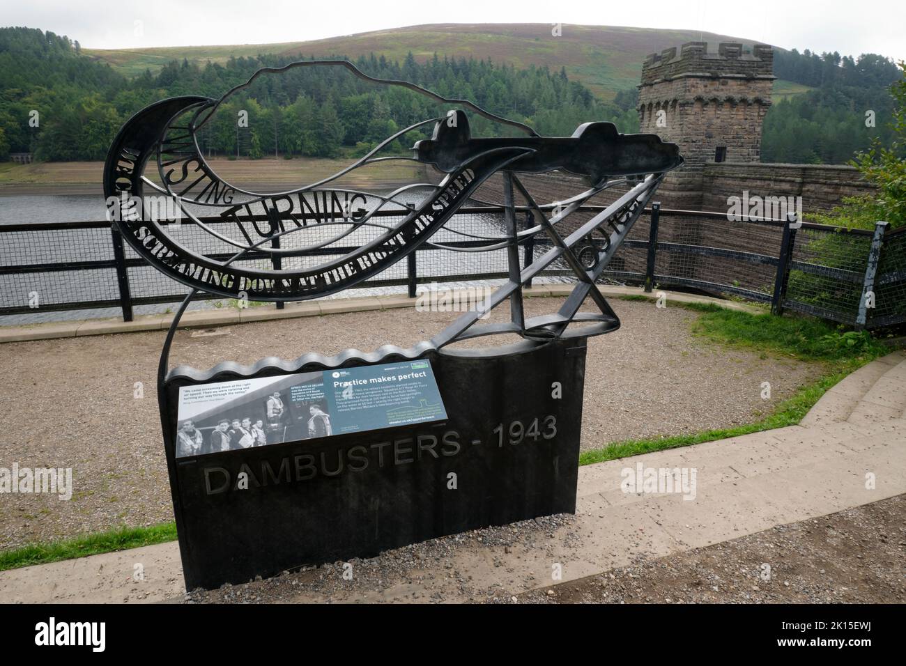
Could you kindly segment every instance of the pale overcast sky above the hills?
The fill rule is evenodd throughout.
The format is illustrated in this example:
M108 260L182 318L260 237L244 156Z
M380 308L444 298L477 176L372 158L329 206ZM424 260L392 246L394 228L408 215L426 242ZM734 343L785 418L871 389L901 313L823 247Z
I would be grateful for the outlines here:
M299 42L439 23L631 25L906 59L902 0L0 0L0 22L93 48Z

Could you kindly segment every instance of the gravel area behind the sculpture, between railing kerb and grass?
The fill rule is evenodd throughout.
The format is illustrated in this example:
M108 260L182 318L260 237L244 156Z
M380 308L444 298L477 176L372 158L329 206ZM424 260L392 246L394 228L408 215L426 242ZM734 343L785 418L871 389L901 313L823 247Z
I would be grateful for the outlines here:
M526 314L561 302L527 299ZM821 373L815 364L700 343L689 333L699 315L687 310L613 305L622 329L589 340L585 449L756 420ZM171 365L409 346L455 317L389 310L243 324L215 335L180 331ZM163 338L148 332L0 345L0 467L72 468L74 483L70 501L0 495L0 547L172 520L155 395ZM770 401L760 397L763 381L771 383Z

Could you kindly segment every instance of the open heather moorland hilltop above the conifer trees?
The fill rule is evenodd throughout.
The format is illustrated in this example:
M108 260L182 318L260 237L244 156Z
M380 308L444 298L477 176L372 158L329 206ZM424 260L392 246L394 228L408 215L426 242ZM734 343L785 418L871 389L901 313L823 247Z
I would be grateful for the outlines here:
M402 61L410 51L419 62L434 53L441 56L491 58L525 68L546 65L552 71L566 68L571 79L582 82L595 95L610 100L621 90L639 83L641 63L649 53L670 46L703 40L708 43L751 40L698 30L656 30L607 25L564 24L554 37L551 24L435 24L413 25L372 33L352 34L311 42L241 44L234 46L177 46L120 51L83 49L92 57L127 76L146 69L157 72L174 59L190 63L225 63L231 56L258 54L308 57L384 55Z

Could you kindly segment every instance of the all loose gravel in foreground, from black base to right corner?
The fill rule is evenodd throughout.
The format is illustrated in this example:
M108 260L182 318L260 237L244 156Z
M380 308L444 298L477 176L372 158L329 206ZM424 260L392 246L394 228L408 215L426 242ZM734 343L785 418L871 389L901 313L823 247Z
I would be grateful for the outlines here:
M906 496L891 497L706 548L640 557L631 566L522 594L501 584L478 585L468 571L450 564L460 549L481 551L503 567L505 580L501 551L528 547L553 557L554 544L578 543L574 516L545 516L444 536L369 560L198 590L184 601L381 602L391 590L394 601L406 603L904 603L904 519ZM352 580L344 577L344 566L352 566Z

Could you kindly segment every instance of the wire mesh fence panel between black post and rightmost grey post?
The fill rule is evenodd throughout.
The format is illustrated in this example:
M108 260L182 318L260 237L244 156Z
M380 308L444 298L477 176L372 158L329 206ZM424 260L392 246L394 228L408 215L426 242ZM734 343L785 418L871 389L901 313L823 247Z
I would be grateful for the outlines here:
M872 235L803 227L796 231L784 307L855 323Z

